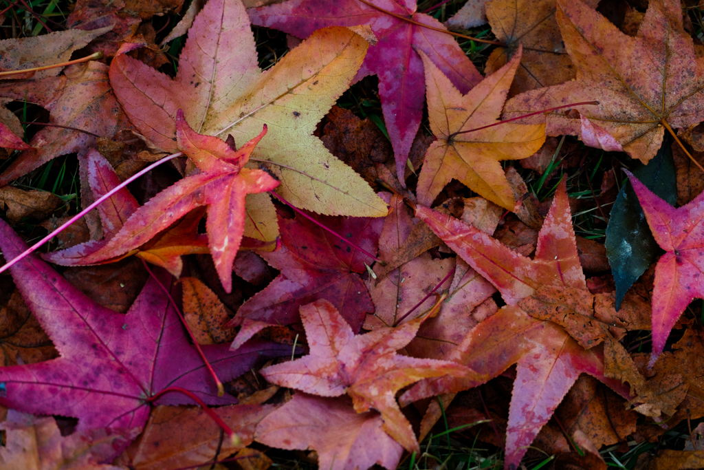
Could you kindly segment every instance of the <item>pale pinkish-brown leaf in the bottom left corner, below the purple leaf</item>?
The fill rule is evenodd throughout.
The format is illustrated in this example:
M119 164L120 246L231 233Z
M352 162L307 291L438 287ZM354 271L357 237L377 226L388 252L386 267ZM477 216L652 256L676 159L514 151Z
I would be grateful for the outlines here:
M139 435L139 428L89 429L61 435L53 417L39 418L8 410L0 423L5 445L0 447L4 469L115 470L111 462Z

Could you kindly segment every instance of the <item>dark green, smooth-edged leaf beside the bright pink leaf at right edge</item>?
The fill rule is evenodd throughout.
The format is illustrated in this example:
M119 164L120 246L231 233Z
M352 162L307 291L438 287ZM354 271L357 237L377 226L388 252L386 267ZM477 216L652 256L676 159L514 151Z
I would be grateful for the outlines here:
M650 190L667 201L677 202L677 180L672 160L672 138L666 138L662 147L648 165L636 163L633 174ZM653 264L658 244L648 230L633 186L629 181L621 187L611 208L606 227L606 256L616 283L616 310L629 287Z

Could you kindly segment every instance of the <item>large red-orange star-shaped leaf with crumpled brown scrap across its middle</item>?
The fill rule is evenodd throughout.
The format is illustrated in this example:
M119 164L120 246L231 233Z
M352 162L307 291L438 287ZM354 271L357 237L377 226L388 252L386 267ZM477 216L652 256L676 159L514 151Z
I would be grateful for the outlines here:
M580 373L589 373L621 395L629 396L620 382L605 378L601 347L584 350L556 323L534 319L520 307L521 301L540 293L541 286L586 292L564 180L539 233L534 259L431 209L418 206L416 216L494 284L508 305L479 323L445 357L465 364L475 373L464 378L422 381L402 395L401 404L467 390L517 364L505 443L505 468L515 469ZM478 378L478 374L485 375Z

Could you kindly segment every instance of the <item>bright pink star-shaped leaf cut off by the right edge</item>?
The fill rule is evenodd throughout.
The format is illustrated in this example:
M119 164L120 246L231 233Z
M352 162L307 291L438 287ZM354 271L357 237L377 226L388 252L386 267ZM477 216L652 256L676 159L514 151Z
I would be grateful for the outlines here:
M704 298L701 280L704 269L704 192L677 209L667 204L626 171L641 202L650 231L665 254L655 265L653 283L653 367L665 347L670 331L693 299Z

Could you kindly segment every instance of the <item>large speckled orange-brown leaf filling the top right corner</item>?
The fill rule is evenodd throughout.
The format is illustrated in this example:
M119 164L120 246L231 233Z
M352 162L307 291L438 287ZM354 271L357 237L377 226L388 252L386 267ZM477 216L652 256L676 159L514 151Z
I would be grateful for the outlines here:
M600 147L589 135L596 128L612 136L611 149L622 147L643 163L660 149L665 128L686 129L704 120L704 58L696 57L684 31L679 1L651 1L636 37L580 0L558 0L557 18L577 79L511 99L505 117L596 100L598 106L575 106L582 118L549 114L548 135L578 135Z

